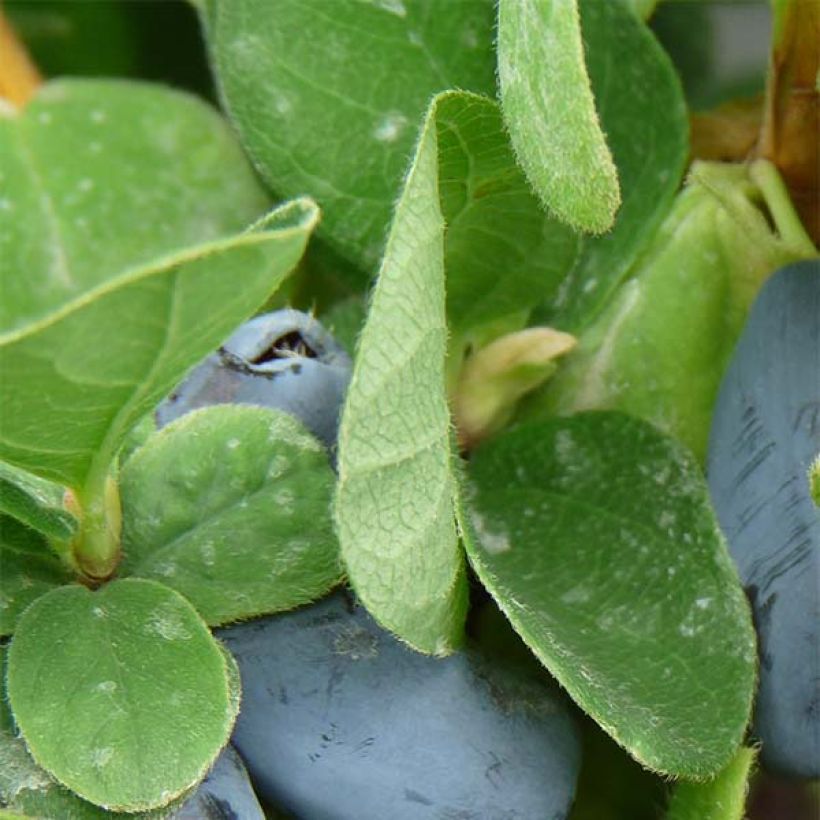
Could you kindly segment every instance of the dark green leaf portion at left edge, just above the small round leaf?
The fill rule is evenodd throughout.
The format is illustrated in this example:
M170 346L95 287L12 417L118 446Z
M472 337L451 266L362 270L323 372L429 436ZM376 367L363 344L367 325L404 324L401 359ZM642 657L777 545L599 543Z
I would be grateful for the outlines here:
M14 632L32 601L71 580L39 532L0 515L0 635Z

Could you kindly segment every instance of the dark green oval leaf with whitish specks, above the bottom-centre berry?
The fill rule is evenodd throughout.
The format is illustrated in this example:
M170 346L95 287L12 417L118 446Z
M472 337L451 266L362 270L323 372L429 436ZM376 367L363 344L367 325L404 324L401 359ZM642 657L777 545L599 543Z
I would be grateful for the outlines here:
M502 434L468 475L468 555L538 658L648 768L719 771L749 719L755 636L691 456L588 413Z

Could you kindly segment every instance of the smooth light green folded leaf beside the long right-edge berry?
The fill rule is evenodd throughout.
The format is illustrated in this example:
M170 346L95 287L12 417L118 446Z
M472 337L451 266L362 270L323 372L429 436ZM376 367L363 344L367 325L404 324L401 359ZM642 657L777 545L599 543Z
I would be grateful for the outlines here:
M773 231L761 200L746 167L695 163L631 278L531 414L536 405L541 415L621 410L703 460L720 380L754 296L773 270L815 253L810 242Z

